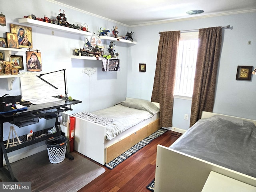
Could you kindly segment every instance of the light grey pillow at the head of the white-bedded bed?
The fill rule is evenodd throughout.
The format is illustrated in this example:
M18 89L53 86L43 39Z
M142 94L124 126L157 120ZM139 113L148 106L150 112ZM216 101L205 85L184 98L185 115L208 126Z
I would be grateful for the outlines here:
M150 112L152 115L159 112L159 108L154 103L142 99L128 99L118 104L134 109L145 110Z

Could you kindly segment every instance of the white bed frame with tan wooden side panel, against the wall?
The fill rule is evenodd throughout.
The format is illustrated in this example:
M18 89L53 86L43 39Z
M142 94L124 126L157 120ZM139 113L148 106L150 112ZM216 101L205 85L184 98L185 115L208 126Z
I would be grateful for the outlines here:
M130 99L130 98L126 98ZM159 107L159 103L154 103ZM65 115L69 118L72 115ZM159 113L106 140L104 126L75 117L74 150L104 165L160 129Z

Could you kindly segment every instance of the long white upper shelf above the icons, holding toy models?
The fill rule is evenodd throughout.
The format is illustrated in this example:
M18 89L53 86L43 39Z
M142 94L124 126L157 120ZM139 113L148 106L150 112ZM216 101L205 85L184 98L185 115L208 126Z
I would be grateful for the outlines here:
M43 22L43 21L38 21L38 20L34 20L34 19L29 19L29 18L19 19L19 23L43 27L43 28L49 28L49 29L53 29L53 30L65 31L65 32L72 33L72 34L81 34L81 35L92 36L92 32L81 31L78 29L73 29L73 28L56 25L56 24L52 24L52 23L47 23L47 22Z

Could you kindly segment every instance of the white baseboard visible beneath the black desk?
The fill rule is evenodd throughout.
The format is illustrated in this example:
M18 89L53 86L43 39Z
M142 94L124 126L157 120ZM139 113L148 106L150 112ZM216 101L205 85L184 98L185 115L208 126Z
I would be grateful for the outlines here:
M13 163L13 162L16 162L18 160L21 160L23 158L26 158L28 156L31 156L31 155L34 155L36 153L39 153L43 150L46 150L46 145L41 145L41 146L38 146L38 147L35 147L35 148L32 148L30 150L27 150L27 151L24 151L24 152L21 152L20 154L15 154L13 156L8 156L8 159L9 159L9 162L10 163ZM3 160L3 165L5 166L6 165L6 162L5 160Z

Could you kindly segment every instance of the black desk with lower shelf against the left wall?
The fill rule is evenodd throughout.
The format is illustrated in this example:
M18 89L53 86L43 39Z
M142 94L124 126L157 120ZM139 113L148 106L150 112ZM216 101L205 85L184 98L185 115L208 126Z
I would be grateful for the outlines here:
M56 96L57 97L57 96ZM60 136L61 132L60 129L58 128L58 125L60 124L58 122L58 115L64 111L69 111L72 110L71 105L73 104L78 104L81 103L82 101L79 100L68 100L66 98L60 98L60 101L55 101L55 102L49 102L49 103L44 103L44 104L38 104L38 105L33 105L31 104L30 107L28 107L27 110L25 111L19 111L19 112L11 112L11 113L4 113L0 114L0 168L3 168L3 157L6 161L6 165L8 168L8 172L12 178L13 181L17 181L16 178L14 177L14 174L12 172L12 168L10 166L10 162L8 160L7 153L24 148L26 146L30 146L32 144L47 140L48 138L55 137L55 136ZM5 148L4 143L4 137L3 137L3 130L4 130L4 123L5 122L10 122L11 124L17 124L18 122L24 121L24 120L31 120L34 118L56 118L55 120L55 127L57 129L57 132L54 134L47 134L45 136L42 136L40 138L36 138L40 136L41 134L48 133L47 131L51 128L47 128L44 130L40 130L38 132L33 133L33 139L31 141L26 141L26 139L22 139L23 143L19 144L17 146L13 146L11 148ZM19 138L26 138L26 135L24 136L19 136ZM70 160L74 159L72 156L69 154L66 154L66 157L68 157Z

